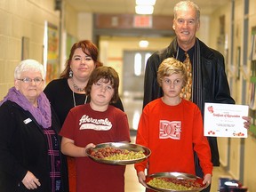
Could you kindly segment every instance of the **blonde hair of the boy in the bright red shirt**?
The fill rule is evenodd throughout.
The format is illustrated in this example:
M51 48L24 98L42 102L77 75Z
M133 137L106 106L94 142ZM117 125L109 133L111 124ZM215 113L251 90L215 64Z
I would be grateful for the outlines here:
M185 65L175 58L167 58L163 60L157 70L157 82L162 87L162 80L164 76L171 76L172 74L180 74L183 79L183 85L188 82L187 68Z

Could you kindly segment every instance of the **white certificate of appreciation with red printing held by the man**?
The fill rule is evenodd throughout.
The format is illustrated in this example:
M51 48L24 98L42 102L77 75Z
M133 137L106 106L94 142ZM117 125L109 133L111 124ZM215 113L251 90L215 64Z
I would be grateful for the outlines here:
M204 136L247 138L242 116L248 116L245 105L205 103Z

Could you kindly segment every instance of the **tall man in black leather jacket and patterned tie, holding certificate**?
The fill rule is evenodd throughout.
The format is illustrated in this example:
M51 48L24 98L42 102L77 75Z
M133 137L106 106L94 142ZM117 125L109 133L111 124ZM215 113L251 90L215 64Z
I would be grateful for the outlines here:
M186 59L185 52L188 53L192 61L191 101L201 109L202 115L204 116L204 102L235 104L235 100L232 99L229 92L224 57L220 52L209 48L196 38L196 31L199 27L200 11L195 3L180 1L175 5L172 28L176 37L167 48L155 52L148 59L145 71L143 108L151 100L163 96L161 87L156 81L156 72L160 63L168 57L174 57L183 62ZM250 118L248 117L248 119ZM247 119L244 118L244 120ZM248 121L248 124L250 124L250 120ZM244 127L246 126L244 125ZM208 140L212 151L212 164L219 166L220 156L217 139L209 137ZM195 159L196 174L203 177L197 158L195 157ZM210 191L210 187L204 191Z

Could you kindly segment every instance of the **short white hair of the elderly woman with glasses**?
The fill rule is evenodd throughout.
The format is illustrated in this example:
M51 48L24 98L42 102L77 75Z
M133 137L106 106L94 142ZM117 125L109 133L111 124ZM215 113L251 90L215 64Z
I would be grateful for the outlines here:
M24 71L40 72L44 79L44 66L37 60L21 60L20 64L14 70L14 78L19 79Z

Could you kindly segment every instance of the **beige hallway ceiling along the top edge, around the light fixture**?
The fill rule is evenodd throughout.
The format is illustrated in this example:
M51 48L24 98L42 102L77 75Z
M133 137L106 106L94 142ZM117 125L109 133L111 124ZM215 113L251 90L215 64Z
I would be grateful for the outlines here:
M66 2L77 12L135 14L136 0L66 0ZM178 2L179 0L156 0L153 14L172 15L173 6ZM194 2L199 5L201 14L211 14L230 0L194 0Z

